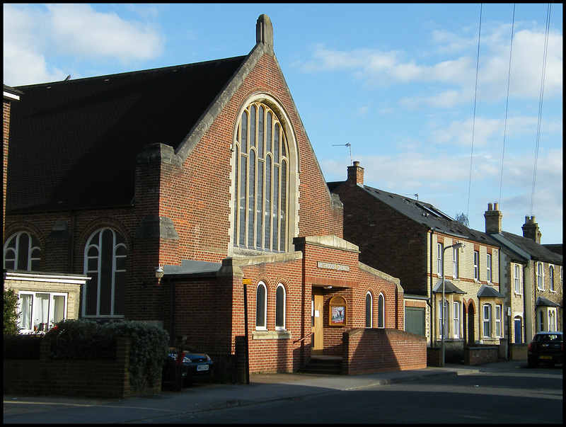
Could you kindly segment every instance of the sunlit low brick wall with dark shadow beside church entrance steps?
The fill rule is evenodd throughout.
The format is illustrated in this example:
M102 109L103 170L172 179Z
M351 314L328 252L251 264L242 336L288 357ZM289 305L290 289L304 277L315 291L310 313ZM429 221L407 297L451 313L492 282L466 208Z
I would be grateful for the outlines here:
M398 329L359 328L342 334L342 341L345 375L427 368L424 336Z

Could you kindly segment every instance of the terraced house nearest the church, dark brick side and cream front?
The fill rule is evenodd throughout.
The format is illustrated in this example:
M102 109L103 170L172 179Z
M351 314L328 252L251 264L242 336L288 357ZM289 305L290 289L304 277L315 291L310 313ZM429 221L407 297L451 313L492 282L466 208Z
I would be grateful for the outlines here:
M444 341L446 360L460 363L465 347L506 338L497 241L429 203L364 185L357 161L328 188L344 204L344 237L360 261L400 279L405 331L426 336L431 353Z

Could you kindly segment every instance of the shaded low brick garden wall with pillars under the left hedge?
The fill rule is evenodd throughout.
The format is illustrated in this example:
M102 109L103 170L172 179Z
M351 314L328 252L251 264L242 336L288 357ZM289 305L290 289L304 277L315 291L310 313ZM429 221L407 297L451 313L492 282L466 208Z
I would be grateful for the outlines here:
M50 360L50 341L44 340L40 360L4 360L4 394L123 398L161 392L161 378L156 387L130 389L130 342L117 339L116 360Z

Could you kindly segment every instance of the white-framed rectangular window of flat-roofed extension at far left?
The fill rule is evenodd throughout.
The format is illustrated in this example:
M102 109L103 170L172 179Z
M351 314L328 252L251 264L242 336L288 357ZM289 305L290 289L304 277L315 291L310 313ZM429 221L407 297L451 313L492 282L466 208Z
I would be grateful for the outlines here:
M67 318L67 293L22 291L18 297L18 327L23 334L48 331Z

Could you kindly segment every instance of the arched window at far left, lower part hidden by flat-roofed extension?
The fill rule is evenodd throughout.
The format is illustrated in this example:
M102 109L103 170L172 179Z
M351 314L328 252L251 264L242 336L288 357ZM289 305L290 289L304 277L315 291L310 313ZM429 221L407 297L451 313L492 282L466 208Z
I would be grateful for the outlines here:
M40 271L40 258L39 242L28 232L14 234L4 245L4 268Z

